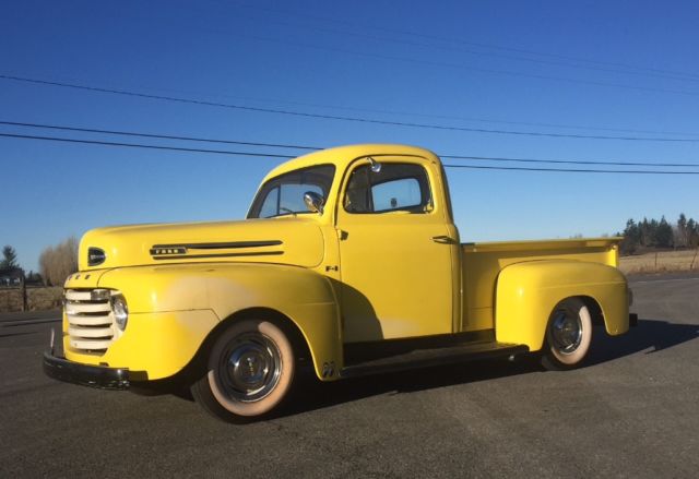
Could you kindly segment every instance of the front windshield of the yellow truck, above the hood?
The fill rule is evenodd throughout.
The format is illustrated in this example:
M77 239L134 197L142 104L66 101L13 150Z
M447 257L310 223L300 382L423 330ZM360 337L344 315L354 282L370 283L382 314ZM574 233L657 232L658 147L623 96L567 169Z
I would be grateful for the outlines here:
M334 165L318 165L272 178L260 188L248 218L310 213L304 203L304 193L310 191L327 199L334 175Z

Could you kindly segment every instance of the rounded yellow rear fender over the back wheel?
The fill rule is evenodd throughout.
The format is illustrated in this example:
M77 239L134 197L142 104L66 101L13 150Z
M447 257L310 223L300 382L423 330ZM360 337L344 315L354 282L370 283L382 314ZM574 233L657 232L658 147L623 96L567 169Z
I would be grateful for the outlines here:
M498 275L497 340L540 350L552 311L558 302L574 296L596 301L608 334L628 331L628 287L617 268L569 260L531 261L507 266Z

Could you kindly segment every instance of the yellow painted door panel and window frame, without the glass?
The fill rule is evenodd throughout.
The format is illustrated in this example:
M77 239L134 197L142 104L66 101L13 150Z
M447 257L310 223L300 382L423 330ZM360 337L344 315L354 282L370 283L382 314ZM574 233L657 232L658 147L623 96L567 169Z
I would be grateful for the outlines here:
M436 242L449 236L441 171L436 158L372 156L383 165L417 164L431 183L433 205L418 214L348 213L337 207L342 230L341 302L346 343L448 334L453 330L452 271L454 244ZM366 166L359 158L353 169ZM345 197L346 182L340 197ZM455 238L454 238L455 239Z

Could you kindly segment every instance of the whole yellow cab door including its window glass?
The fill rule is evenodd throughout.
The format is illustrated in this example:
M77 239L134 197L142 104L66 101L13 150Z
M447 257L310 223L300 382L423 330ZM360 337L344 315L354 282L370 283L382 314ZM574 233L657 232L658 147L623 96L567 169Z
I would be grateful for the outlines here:
M370 161L351 167L337 205L345 342L451 333L458 242L434 199L439 169L413 157Z

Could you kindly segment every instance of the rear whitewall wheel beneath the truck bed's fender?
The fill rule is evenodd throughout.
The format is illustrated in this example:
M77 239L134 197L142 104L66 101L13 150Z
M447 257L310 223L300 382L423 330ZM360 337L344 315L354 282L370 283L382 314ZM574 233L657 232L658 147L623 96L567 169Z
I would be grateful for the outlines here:
M590 310L580 298L565 299L548 319L542 364L555 371L574 368L588 355L591 343Z

